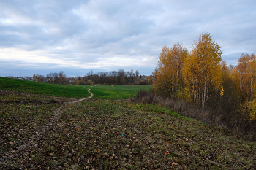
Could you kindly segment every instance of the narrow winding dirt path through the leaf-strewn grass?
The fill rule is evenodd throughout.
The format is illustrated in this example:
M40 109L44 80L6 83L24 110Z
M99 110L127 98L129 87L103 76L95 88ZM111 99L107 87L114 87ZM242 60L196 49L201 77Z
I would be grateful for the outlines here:
M88 88L89 89L89 88ZM0 158L0 165L4 164L7 161L10 161L10 159L15 158L16 155L18 155L18 153L26 150L28 147L33 148L33 147L37 147L36 141L38 139L40 139L40 137L45 134L46 131L49 131L50 128L52 128L53 124L56 123L56 121L59 118L59 115L61 115L61 109L66 106L67 104L74 104L80 101L84 101L86 99L89 99L91 97L94 96L93 93L91 93L90 91L91 89L88 90L88 92L91 94L91 96L87 97L87 98L82 98L79 99L78 101L71 101L71 102L67 102L65 104L63 104L61 107L59 107L56 112L53 114L53 116L50 118L50 120L48 121L48 123L46 123L41 129L39 129L34 136L31 136L31 138L28 139L27 142L24 142L25 144L21 145L20 147L18 147L16 150L12 150L11 152L7 153L6 155L4 155L2 158Z

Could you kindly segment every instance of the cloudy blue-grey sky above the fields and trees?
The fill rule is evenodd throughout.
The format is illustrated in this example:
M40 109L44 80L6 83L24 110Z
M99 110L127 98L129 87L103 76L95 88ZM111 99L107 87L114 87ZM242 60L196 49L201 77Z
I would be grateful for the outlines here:
M222 60L256 54L255 0L0 0L0 76L154 72L162 47L208 32Z

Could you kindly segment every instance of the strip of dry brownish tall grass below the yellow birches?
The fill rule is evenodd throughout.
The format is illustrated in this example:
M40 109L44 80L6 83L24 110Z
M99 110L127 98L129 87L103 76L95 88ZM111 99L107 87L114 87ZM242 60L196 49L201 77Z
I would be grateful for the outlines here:
M222 109L203 110L200 106L191 104L187 101L177 100L175 98L157 96L153 92L140 90L132 102L144 104L161 104L169 109L173 109L181 115L200 120L203 123L222 128L224 131L236 135L238 138L256 140L256 121L240 114L239 110L232 114L222 111Z

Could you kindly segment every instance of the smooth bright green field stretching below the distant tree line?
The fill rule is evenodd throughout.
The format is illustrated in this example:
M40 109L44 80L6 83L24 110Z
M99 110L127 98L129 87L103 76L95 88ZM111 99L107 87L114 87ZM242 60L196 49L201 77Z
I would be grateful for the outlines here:
M94 98L125 99L135 96L140 89L149 90L152 87L152 85L53 85L0 77L0 90L69 98L86 98L90 96L87 89L90 88Z

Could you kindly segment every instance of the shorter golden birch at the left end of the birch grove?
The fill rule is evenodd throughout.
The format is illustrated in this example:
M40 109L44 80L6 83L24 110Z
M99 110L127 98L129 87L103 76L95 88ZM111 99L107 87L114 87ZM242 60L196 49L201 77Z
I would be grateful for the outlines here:
M182 68L187 50L179 44L164 46L154 72L154 90L172 97L181 97L184 90Z

